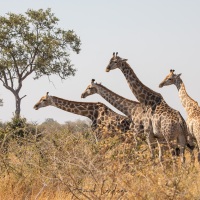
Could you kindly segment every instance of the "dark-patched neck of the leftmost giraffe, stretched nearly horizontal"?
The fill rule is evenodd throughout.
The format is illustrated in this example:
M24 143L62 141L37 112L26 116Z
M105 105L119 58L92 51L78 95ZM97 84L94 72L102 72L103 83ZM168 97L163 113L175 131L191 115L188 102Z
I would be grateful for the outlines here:
M51 105L77 115L88 117L92 121L98 116L98 103L76 102L50 96Z

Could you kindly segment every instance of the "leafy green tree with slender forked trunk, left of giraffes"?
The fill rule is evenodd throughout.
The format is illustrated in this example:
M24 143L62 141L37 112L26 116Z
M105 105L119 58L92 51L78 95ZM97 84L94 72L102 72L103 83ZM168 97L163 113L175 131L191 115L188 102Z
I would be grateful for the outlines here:
M19 92L31 74L74 76L70 50L80 52L81 41L73 30L57 27L58 18L51 9L27 10L25 15L8 13L0 16L0 81L15 96L15 116L20 117Z

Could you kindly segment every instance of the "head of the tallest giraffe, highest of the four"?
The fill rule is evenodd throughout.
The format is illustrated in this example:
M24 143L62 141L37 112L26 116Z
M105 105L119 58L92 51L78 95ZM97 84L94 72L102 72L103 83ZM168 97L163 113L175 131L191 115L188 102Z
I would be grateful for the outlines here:
M123 64L127 61L128 59L123 59L118 56L117 53L113 53L112 58L110 59L110 62L108 66L106 67L106 72L109 72L110 70L119 68L120 66L123 66Z

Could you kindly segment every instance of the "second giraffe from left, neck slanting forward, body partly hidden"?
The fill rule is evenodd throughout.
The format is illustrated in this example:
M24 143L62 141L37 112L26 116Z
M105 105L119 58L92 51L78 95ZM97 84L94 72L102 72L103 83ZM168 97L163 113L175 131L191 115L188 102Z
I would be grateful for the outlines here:
M82 93L81 98L86 98L87 96L93 94L99 94L112 106L114 106L119 111L124 113L127 117L132 119L132 130L135 137L143 137L143 117L145 114L145 110L139 102L126 99L114 93L102 84L95 83L95 79L91 80L91 84L89 84L86 90Z

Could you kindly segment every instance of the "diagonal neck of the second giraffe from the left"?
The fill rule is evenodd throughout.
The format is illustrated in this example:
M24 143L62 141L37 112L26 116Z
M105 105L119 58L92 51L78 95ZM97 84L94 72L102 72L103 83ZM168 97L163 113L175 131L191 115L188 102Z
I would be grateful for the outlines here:
M101 84L96 84L95 86L99 95L101 95L111 105L129 117L131 116L132 109L139 104L139 102L131 101L112 92Z

